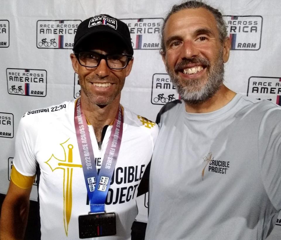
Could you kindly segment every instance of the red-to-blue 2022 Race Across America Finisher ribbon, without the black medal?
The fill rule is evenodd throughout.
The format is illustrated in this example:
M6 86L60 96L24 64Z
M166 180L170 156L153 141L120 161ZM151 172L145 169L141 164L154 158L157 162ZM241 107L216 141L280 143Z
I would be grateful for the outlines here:
M105 212L104 204L116 165L123 133L123 114L121 105L119 105L119 109L115 116L99 175L97 174L87 120L81 110L80 98L78 98L75 106L74 124L91 213Z

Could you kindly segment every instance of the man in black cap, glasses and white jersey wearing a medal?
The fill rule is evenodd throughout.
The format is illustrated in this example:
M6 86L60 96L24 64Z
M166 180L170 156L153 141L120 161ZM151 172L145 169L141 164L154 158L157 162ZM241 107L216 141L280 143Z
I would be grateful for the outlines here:
M81 97L20 120L1 239L23 238L37 169L41 239L131 239L158 127L119 103L133 64L128 27L108 15L88 18L73 51Z

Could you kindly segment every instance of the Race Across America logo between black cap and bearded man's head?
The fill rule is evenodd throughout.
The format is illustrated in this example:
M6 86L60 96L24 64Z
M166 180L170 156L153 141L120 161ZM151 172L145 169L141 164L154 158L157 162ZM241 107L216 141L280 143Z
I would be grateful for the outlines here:
M159 33L164 21L163 18L126 18L120 20L128 25L133 49L161 48Z

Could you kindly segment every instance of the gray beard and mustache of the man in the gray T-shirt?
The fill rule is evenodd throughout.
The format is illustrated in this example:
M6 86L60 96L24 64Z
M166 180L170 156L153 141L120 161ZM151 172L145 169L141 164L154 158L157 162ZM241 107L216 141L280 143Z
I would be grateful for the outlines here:
M175 70L179 69L184 64L190 62L198 62L209 67L207 73L207 82L202 85L203 79L189 79L180 81L179 76L175 74L174 71L167 68L167 72L174 84L177 92L181 96L181 99L188 104L202 103L215 95L215 93L220 89L223 84L224 79L224 63L222 60L223 49L220 50L216 59L217 61L213 66L210 66L210 61L205 58L196 57L192 60L183 60L181 63L177 64ZM166 62L167 66L167 62ZM201 87L200 87L201 86Z

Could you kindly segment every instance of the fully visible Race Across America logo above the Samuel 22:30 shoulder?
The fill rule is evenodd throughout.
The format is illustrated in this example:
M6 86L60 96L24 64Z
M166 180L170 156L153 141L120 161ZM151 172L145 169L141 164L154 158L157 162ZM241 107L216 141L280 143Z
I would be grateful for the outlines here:
M9 94L36 97L47 95L46 70L7 68L6 73Z

